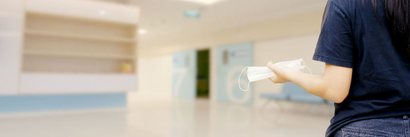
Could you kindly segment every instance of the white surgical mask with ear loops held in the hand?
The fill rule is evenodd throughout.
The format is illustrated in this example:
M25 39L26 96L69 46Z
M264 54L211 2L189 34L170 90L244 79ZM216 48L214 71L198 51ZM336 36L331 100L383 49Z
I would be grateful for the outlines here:
M304 66L303 58L300 58L298 60L293 60L293 61L278 62L278 63L275 63L274 65L280 65L280 66L285 66L285 67L294 68L294 69L302 69L302 72L304 68L308 68L310 73L312 74L311 69L308 66ZM242 89L240 87L240 76L242 75L243 71L246 68L248 68L247 74L248 74L249 83L248 83L247 89ZM238 85L242 91L248 91L249 84L251 82L267 79L273 76L275 76L275 73L268 67L245 67L242 69L242 71L239 74Z

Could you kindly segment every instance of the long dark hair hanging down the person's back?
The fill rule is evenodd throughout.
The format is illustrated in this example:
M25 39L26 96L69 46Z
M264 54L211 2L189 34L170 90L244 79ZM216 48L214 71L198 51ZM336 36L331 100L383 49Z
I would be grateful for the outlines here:
M410 56L410 2L407 0L382 0L382 2L393 44ZM377 0L372 0L372 3L377 12Z

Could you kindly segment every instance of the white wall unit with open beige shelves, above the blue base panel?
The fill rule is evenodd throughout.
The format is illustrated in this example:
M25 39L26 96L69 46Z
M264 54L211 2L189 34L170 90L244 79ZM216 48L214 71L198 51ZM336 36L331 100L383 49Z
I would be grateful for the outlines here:
M136 89L140 9L84 0L0 1L0 95Z

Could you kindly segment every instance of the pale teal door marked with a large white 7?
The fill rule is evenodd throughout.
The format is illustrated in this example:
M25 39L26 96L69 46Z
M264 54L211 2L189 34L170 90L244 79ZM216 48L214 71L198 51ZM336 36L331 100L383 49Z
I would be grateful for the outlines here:
M172 95L183 99L196 96L196 51L174 53Z

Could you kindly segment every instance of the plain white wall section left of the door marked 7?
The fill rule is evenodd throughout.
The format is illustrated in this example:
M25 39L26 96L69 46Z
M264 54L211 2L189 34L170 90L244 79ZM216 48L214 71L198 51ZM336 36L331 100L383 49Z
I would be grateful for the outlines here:
M128 93L129 107L138 102L170 100L172 54L138 58L137 86L137 91Z

